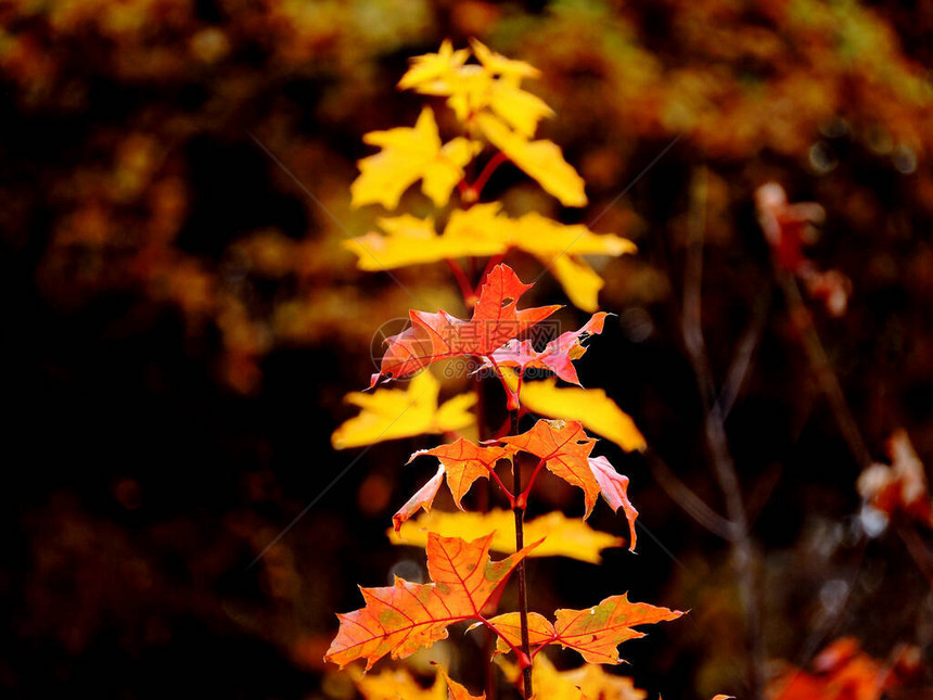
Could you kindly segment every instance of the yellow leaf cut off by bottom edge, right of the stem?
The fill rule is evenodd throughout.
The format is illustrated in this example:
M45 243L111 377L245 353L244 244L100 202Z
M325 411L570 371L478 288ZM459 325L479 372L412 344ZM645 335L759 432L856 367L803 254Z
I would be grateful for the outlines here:
M497 658L497 663L510 683L521 682L517 664L501 657ZM545 654L539 653L532 671L536 700L644 700L648 697L644 690L635 687L631 678L608 673L599 664L558 671Z

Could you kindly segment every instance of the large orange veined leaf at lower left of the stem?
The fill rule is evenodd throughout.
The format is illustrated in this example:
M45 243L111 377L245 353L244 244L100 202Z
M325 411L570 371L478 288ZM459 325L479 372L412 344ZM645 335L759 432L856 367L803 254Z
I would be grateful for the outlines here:
M324 656L341 667L366 659L367 670L385 657L404 659L447 637L447 627L481 619L512 570L536 544L501 561L489 560L493 534L465 542L432 533L427 571L433 583L396 577L395 585L361 588L366 607L340 614L340 631Z

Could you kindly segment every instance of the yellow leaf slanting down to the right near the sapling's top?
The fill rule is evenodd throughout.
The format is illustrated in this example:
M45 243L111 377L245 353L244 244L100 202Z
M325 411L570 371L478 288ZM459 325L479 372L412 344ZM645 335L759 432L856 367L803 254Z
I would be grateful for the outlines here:
M559 145L548 140L529 141L525 135L513 131L501 119L485 112L476 116L476 124L493 145L561 204L586 205L584 179L564 160Z

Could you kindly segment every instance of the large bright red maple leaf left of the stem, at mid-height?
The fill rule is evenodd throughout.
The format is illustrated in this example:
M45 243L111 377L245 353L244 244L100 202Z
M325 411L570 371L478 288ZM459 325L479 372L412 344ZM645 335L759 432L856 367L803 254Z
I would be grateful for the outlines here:
M411 327L385 341L388 348L370 386L380 378L404 377L440 359L491 355L560 308L540 306L517 310L519 298L531 288L531 284L523 284L508 265L497 265L486 278L469 321L444 310L436 314L409 311Z

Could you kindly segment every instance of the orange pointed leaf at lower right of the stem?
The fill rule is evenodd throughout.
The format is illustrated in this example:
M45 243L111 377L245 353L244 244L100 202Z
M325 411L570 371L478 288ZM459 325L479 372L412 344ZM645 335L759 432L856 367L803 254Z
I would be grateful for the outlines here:
M585 610L558 610L553 623L544 615L529 613L528 635L536 640L532 642L536 647L559 644L564 649L578 652L589 663L617 664L622 663L618 645L644 636L632 627L676 620L682 614L678 610L646 602L630 602L628 594L623 594ZM521 644L519 613L497 615L489 622L509 641L515 644L519 640ZM504 653L510 647L500 637L497 649Z

